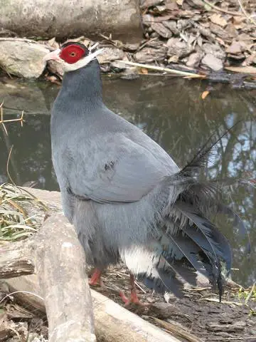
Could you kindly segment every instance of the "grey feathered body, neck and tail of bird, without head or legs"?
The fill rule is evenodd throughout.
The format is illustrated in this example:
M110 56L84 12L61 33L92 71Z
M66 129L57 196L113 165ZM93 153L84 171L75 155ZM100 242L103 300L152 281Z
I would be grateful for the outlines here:
M221 291L221 268L229 272L232 258L206 219L215 191L192 177L203 153L180 170L142 130L106 108L97 60L65 73L51 138L63 210L88 263L104 269L122 259L147 286L176 294L183 279L195 284L196 269Z

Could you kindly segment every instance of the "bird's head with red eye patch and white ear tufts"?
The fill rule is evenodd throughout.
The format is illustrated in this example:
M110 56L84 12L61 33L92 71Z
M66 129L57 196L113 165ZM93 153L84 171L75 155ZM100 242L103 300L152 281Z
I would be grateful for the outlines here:
M75 71L83 66L87 66L90 61L94 60L97 55L102 53L102 48L92 52L96 46L97 44L91 48L87 48L82 43L70 41L63 44L63 46L57 50L48 53L43 57L43 61L58 61L62 63L65 72Z

